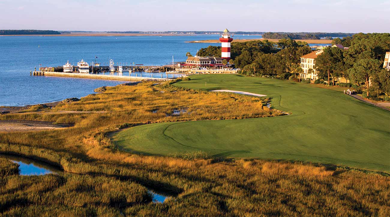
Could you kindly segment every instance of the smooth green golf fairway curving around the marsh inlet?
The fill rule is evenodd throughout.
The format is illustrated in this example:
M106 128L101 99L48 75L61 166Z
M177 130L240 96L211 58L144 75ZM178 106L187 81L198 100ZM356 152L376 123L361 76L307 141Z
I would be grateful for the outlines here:
M292 81L241 75L190 78L175 85L267 95L272 97L272 108L292 115L141 125L116 133L115 144L129 152L154 155L202 150L221 157L310 161L390 171L389 111L339 91Z

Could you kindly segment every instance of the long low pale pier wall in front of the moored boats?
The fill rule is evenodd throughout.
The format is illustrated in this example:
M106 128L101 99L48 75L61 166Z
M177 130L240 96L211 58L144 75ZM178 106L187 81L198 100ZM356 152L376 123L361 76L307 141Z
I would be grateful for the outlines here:
M148 78L148 77L87 74L87 73L74 73L74 72L33 71L32 75L34 75L34 76L71 77L71 78L92 78L92 79L105 79L105 80L118 80L118 81L171 81L172 80L172 78Z

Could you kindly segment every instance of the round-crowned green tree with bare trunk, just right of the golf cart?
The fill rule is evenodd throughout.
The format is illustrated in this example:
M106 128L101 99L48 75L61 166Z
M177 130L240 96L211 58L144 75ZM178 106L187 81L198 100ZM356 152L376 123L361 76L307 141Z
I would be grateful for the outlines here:
M349 78L356 82L365 82L367 97L369 96L369 80L370 77L375 77L376 73L381 70L381 61L366 58L356 62L349 71Z

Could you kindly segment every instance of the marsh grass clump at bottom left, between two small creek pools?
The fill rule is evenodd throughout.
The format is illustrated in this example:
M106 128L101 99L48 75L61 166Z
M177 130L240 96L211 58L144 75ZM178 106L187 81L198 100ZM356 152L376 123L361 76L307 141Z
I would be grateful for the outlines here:
M107 211L118 215L123 207L152 200L145 187L104 176L66 173L6 176L0 182L0 209L7 216L40 216L43 211L68 216L71 213L96 216Z

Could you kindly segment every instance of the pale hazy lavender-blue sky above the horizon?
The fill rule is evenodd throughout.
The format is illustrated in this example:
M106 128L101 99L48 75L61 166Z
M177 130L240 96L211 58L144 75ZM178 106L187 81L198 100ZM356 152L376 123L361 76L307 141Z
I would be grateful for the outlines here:
M0 29L390 32L390 0L0 0Z

